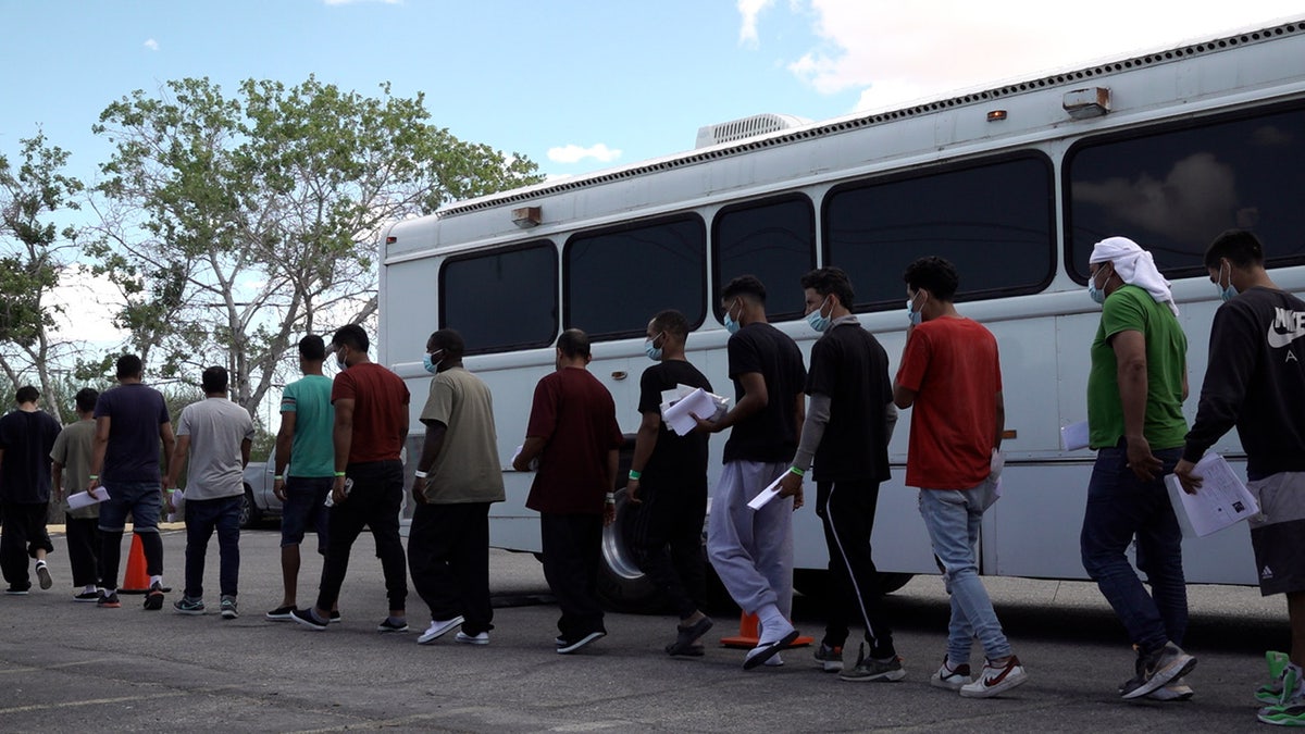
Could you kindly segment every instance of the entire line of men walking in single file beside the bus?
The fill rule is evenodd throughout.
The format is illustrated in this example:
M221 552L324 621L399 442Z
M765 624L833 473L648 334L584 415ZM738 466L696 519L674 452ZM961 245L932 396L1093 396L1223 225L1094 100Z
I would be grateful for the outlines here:
M1107 238L1095 246L1088 295L1103 312L1088 350L1087 409L1096 462L1081 546L1084 568L1137 650L1134 675L1120 686L1120 695L1191 697L1184 677L1195 658L1181 646L1188 619L1181 532L1161 478L1176 474L1186 491L1199 492L1195 462L1236 426L1248 455L1249 487L1261 503L1261 515L1251 520L1261 588L1265 594L1287 594L1292 624L1291 653L1267 656L1271 680L1257 699L1270 705L1259 718L1305 724L1305 567L1300 563L1305 346L1298 340L1305 336L1305 303L1279 289L1263 261L1262 244L1245 231L1225 232L1206 251L1210 279L1227 303L1211 328L1210 367L1189 430L1182 415L1186 338L1168 282L1134 242ZM911 409L906 485L920 488L920 513L951 597L946 654L929 683L967 697L988 697L1027 680L975 556L983 513L1000 496L1004 461L997 341L958 312L959 274L946 260L920 259L903 279L908 327L893 379L883 347L852 311L855 293L840 269L812 270L800 282L806 321L821 333L809 370L796 342L767 323L766 287L752 276L727 283L719 296L731 334L733 406L718 418L696 417L697 430L684 436L666 426L660 405L680 387L713 388L685 358L685 317L668 310L649 321L645 351L655 364L639 381L639 428L626 492L641 564L679 618L675 637L666 645L668 654L703 654L702 637L713 627L703 613L699 552L706 521L710 563L739 606L758 619L758 644L745 654L744 667L783 663L780 652L797 637L790 620L792 512L804 505L803 483L810 474L834 580L816 662L844 680L906 677L882 603L870 533L878 488L889 478L887 444L897 411ZM410 396L398 376L368 359L368 347L361 328L339 329L330 350L341 371L330 380L322 375L328 350L321 337L305 337L299 345L304 377L284 391L274 478L274 491L284 503L284 596L266 616L318 631L338 622L350 550L363 528L371 528L389 609L378 631L407 630L410 572L431 611L419 643L433 643L457 628L457 641L488 644L493 630L488 511L504 500L489 389L462 364L465 345L457 332L431 334L424 364L432 380L420 413L425 439L410 488L415 512L405 558L399 453L408 434ZM526 505L540 515L544 573L561 611L556 649L562 654L607 633L596 581L603 526L615 520L622 436L612 396L587 370L590 359L583 332L568 329L560 336L555 371L535 387L525 440L512 460L515 470L534 471ZM54 460L56 485L68 478L70 487L108 488L98 521L69 515L78 601L119 606L114 580L130 513L150 576L145 607L162 607L157 524L159 508L171 502L162 490L175 486L189 462L187 585L174 606L183 614L205 611L204 554L215 530L221 613L235 618L240 474L253 435L248 413L227 400L226 371L211 367L202 376L206 400L183 410L174 438L162 396L141 384L140 359L121 358L117 377L120 385L103 394L78 393L82 421L63 434L57 423L34 417L43 414L35 411L39 396L30 388L17 396L20 410L0 419L0 452L8 452L0 453L7 487L0 490L5 502L0 555L9 593L30 586L26 554L37 559L42 586L50 586L44 555L54 549L43 522L37 528L35 508L26 507L40 503L40 494L29 492L29 498L14 490L40 487L44 481L48 492L50 481L40 474L42 461L13 456L40 456L30 447L46 441L48 448L40 451ZM726 430L724 468L707 519L707 441ZM166 473L158 464L159 443L170 457ZM159 477L166 477L163 485ZM776 481L779 499L758 509L749 507ZM309 524L325 562L316 602L299 607L299 545ZM93 573L87 559L95 532L102 541ZM1134 539L1137 567L1146 573L1150 592L1125 555ZM16 560L20 551L25 555ZM850 616L864 628L865 640L848 667L843 648L853 622ZM970 663L975 640L985 658L977 675Z

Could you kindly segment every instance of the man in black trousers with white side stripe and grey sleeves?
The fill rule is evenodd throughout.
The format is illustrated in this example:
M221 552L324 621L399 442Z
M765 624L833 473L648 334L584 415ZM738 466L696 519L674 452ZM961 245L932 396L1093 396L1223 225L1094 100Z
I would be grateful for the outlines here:
M843 670L847 602L855 601L865 628L856 666L843 680L900 680L906 677L893 646L878 569L870 556L870 532L880 482L889 478L887 443L897 423L889 358L851 311L855 302L847 273L821 268L803 276L806 323L820 332L806 374L806 421L780 496L800 495L803 474L816 462L816 515L825 528L829 571L834 580L825 613L825 639L816 661L826 671Z

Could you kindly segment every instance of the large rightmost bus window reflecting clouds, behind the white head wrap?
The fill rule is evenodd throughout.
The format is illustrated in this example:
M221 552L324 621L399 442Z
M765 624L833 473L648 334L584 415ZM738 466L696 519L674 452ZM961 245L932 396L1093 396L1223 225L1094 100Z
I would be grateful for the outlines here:
M1270 265L1305 261L1305 110L1098 137L1065 162L1066 260L1087 282L1092 246L1124 235L1171 278L1205 276L1219 232L1253 230Z

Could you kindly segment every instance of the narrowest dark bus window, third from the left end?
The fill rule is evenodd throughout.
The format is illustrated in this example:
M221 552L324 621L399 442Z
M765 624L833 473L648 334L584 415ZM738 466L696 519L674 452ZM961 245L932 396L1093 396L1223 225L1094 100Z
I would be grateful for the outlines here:
M816 212L801 195L727 206L711 223L711 277L715 291L739 276L766 286L766 316L803 316L799 278L816 266ZM719 320L720 304L713 303Z

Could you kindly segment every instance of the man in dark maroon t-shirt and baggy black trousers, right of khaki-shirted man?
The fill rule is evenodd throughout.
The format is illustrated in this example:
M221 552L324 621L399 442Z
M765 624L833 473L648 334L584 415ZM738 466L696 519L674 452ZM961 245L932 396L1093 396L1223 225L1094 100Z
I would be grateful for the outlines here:
M529 471L539 458L526 507L539 512L544 577L557 606L557 652L573 653L607 635L598 603L603 525L616 519L617 449L612 393L585 367L589 336L566 329L557 338L557 371L539 380L526 443L512 468Z

